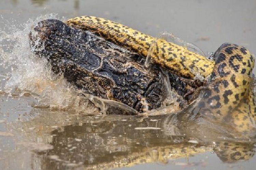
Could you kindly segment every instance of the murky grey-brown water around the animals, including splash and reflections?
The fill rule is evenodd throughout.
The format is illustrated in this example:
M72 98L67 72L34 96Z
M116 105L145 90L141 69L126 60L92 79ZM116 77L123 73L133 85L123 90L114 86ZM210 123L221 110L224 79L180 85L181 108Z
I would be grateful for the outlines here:
M205 52L232 42L255 54L255 1L2 0L0 14L0 169L256 165L255 139L232 138L223 124L181 123L175 115L98 115L98 108L33 56L27 37L42 19L94 15L153 36L169 31Z

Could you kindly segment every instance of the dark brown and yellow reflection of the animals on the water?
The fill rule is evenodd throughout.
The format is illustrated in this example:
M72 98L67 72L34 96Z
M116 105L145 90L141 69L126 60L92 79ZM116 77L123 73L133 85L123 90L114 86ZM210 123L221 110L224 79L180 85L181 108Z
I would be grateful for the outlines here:
M49 117L46 118L43 116L45 112L39 112L38 117L24 122L23 128L33 126L39 129L46 122L48 127L51 127L51 122L58 126L50 131L41 129L40 133L34 136L41 137L44 141L50 134L52 136L48 142L53 149L38 155L42 169L65 169L74 166L107 169L152 162L166 164L172 159L189 158L203 152L215 152L223 162L234 163L251 159L255 154L253 142L200 138L200 135L196 134L208 133L212 136L217 132L202 129L203 127L195 122L186 123L186 128L197 129L194 137L189 137L189 134L183 131L185 124L182 121L177 122L176 115L148 118L69 116L69 121L66 121L67 117L63 116L63 113L58 117L56 113L48 114ZM181 128L182 126L184 128Z

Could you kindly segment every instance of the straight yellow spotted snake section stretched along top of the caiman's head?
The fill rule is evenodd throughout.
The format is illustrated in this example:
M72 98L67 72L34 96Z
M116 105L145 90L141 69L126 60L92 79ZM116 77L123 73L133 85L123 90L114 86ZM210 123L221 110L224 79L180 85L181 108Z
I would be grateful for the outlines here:
M170 43L164 39L156 39L114 21L92 16L81 16L69 19L69 26L92 31L106 40L126 47L129 50L147 56L152 43L155 48L151 58L163 68L185 78L193 78L199 72L207 77L213 70L214 62L187 50L185 47Z

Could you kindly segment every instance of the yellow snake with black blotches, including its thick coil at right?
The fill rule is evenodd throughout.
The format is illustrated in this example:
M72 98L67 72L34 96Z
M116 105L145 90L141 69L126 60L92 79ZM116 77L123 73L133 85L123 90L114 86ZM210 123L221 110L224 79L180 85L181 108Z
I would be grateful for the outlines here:
M113 43L147 57L155 64L181 77L193 79L196 74L210 76L208 89L198 102L201 112L214 114L233 124L239 132L255 130L256 108L252 70L254 57L246 48L223 44L215 52L215 62L186 47L157 39L114 21L93 16L69 19L66 24L89 30ZM227 119L232 118L232 120Z

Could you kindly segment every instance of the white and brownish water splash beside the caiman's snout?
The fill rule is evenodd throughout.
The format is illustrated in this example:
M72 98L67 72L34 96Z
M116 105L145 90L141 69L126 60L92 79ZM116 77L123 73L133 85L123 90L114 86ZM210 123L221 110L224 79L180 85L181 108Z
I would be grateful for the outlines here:
M20 25L3 18L0 21L4 26L0 30L0 94L32 96L36 99L33 107L98 113L98 108L88 98L61 75L54 74L45 59L32 53L35 49L30 48L28 37L31 28L48 18L61 20L57 14L47 14Z

